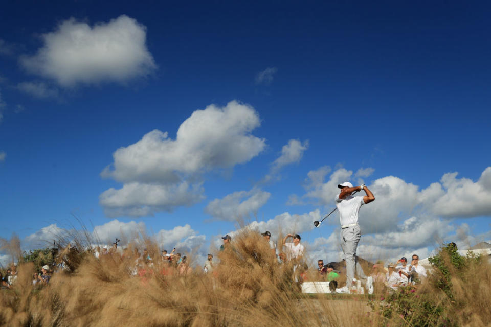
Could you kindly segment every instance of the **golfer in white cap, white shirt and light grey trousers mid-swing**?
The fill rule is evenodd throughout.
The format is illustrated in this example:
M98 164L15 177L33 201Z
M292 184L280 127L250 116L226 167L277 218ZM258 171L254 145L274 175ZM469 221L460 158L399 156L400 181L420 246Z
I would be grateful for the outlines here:
M365 185L353 188L350 182L344 182L339 184L338 188L341 189L341 192L336 196L336 206L341 223L341 248L346 261L346 286L349 288L354 278L356 247L362 236L362 230L358 224L358 212L362 205L372 202L375 197ZM351 195L361 190L367 195L355 197Z

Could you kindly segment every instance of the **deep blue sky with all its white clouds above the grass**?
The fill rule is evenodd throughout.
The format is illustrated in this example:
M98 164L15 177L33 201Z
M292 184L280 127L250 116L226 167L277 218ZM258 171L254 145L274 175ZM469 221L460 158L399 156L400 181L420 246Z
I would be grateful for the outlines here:
M338 218L312 222L349 179L362 256L489 241L490 7L4 4L0 237L75 215L203 255L239 219L337 261Z

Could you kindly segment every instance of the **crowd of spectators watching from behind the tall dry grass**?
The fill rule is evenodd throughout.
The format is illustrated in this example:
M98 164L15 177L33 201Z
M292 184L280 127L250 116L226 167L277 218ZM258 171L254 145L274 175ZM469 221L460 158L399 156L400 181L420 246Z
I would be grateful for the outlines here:
M279 250L276 244L271 240L271 232L265 231L261 233L267 248L270 250L270 255L277 260L278 264L292 263L293 274L292 278L294 282L302 283L308 281L307 274L308 266L303 261L305 252L304 246L301 244L301 237L298 234L287 234L282 240L282 246ZM232 243L232 237L225 235L221 238L223 244L220 246L220 251L227 249L234 249ZM291 239L291 242L288 242ZM119 240L118 240L119 241ZM162 275L188 275L193 272L193 268L189 265L189 261L186 255L176 252L176 248L173 248L170 252L166 249L162 250L159 258L152 258L148 249L144 248L142 253L138 248L130 249L123 248L118 249L117 242L113 247L109 249L107 247L96 247L93 250L88 250L95 258L102 260L106 255L119 255L121 259L129 259L132 267L128 268L128 272L133 276L139 276L144 281L147 279L149 273L155 273L154 268L158 268ZM134 260L134 261L133 261ZM368 289L368 293L373 293L376 287L388 287L392 290L397 290L400 286L407 286L411 283L418 283L422 278L427 276L426 269L418 264L419 256L412 255L411 264L407 263L405 257L401 258L394 265L388 263L386 267L381 261L377 261L372 266L372 271L367 277L358 262L356 261L356 276L363 285ZM338 291L339 293L347 292L346 290L339 291L338 284L345 283L346 275L346 262L324 264L322 259L318 262L318 276L316 281L329 282L329 288L331 291ZM337 264L337 265L334 265ZM157 265L157 266L155 266ZM213 273L216 263L213 261L213 254L209 253L203 266L196 266L198 271L203 273ZM199 268L202 267L202 268ZM58 270L64 268L63 263L58 265L44 265L39 268L38 272L33 275L33 285L49 284L50 278ZM11 288L17 278L17 266L12 264L5 272L4 275L0 272L0 287ZM343 279L344 278L344 279Z

